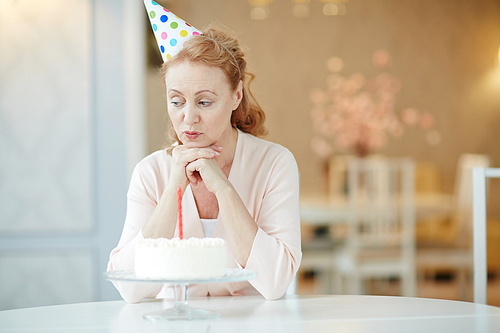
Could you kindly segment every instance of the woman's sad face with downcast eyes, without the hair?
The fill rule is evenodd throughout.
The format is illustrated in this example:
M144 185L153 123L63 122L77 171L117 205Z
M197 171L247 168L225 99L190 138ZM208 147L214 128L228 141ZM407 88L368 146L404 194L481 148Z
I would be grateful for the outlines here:
M231 138L231 114L241 101L241 83L231 91L221 69L184 61L168 69L168 115L188 148L224 146Z

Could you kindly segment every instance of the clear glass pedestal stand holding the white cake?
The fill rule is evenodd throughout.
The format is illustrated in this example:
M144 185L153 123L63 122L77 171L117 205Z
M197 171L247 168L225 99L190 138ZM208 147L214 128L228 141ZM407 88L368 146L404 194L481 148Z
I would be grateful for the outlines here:
M228 268L224 276L211 279L187 279L187 280L168 280L168 279L145 279L135 276L134 271L111 271L104 273L107 280L124 281L136 283L162 283L163 285L174 286L175 303L174 307L161 311L146 313L145 319L152 322L162 320L195 320L195 319L215 319L220 317L220 313L207 310L194 309L188 306L188 286L190 284L201 283L227 283L240 282L255 279L256 271L248 269Z

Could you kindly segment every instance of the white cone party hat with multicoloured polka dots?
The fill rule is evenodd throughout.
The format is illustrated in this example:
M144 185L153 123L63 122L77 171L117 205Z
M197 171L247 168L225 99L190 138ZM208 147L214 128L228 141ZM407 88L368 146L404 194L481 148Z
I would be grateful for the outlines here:
M189 38L201 34L201 31L155 1L144 0L144 5L164 62L176 55Z

